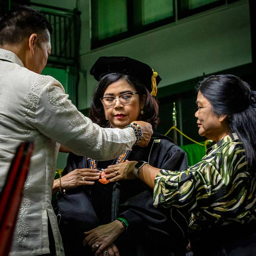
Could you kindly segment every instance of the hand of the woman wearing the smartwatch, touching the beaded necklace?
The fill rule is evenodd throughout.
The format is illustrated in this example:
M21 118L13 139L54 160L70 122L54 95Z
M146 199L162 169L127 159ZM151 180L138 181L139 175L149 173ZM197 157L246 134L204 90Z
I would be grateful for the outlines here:
M115 165L109 165L107 169L104 169L104 172L107 174L105 177L110 182L115 182L117 180L131 180L135 179L134 176L134 165L137 161L128 161L124 163L117 163Z

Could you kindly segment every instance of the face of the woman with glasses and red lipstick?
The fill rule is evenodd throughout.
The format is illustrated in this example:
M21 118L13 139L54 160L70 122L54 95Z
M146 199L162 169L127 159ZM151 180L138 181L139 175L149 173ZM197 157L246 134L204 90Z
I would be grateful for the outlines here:
M137 91L135 87L126 82L126 80L120 79L107 87L103 97L114 96L117 98L124 93L137 93ZM134 94L133 101L129 105L122 105L117 99L114 104L115 105L110 108L106 108L103 105L106 119L108 119L112 128L124 128L124 126L138 120L141 108L143 108L145 104L145 96L141 95L140 100L140 96Z

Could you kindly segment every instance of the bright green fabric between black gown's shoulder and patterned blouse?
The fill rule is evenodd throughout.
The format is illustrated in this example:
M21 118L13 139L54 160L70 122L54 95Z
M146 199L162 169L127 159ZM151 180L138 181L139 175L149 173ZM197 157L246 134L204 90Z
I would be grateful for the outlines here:
M204 144L204 141L200 143ZM201 146L196 143L180 147L187 153L187 161L189 166L200 162L202 157L205 155L205 146Z

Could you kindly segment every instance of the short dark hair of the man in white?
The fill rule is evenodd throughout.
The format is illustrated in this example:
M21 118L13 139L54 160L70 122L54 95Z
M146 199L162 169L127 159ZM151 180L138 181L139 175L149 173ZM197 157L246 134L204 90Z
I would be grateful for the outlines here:
M39 40L49 40L47 30L51 33L52 26L39 11L19 6L0 18L0 45L16 44L37 33Z

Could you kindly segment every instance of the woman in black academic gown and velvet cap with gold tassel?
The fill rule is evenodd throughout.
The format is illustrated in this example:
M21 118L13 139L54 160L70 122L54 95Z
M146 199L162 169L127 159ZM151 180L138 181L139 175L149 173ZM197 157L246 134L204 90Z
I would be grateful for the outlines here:
M161 78L151 67L127 57L100 57L90 73L98 81L89 113L93 122L124 128L142 120L153 129L157 127L158 103L154 96ZM63 175L82 168L101 171L126 160L145 161L161 169L187 168L186 153L169 137L155 133L147 147L135 145L110 161L70 153ZM66 255L186 254L186 211L154 208L152 191L139 179L108 183L101 176L92 186L59 195L57 214Z

